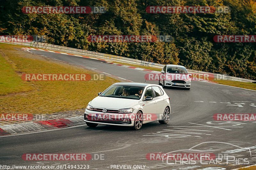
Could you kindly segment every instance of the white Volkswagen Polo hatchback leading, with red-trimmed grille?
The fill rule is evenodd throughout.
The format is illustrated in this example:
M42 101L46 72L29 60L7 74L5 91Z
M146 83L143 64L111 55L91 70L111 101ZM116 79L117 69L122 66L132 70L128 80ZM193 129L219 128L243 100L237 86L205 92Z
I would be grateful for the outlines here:
M169 121L170 97L160 85L121 82L98 95L84 112L84 122L89 127L103 124L139 130L145 123Z

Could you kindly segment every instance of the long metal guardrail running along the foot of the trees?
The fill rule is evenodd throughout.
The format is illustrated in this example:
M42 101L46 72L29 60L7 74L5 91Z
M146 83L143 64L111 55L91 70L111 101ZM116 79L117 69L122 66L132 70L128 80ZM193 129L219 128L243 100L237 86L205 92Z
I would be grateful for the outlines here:
M6 37L5 37L5 39L6 39ZM66 52L66 53L75 54L75 55L85 55L85 56L89 56L89 57L104 59L104 60L107 60L107 61L110 61L110 62L121 62L121 63L127 63L127 64L136 64L136 65L140 65L140 66L148 66L148 67L153 67L153 68L157 68L157 69L162 69L164 67L163 64L152 63L152 62L127 58L127 57L121 57L121 56L117 56L117 55L109 55L109 54L104 54L104 53L87 51L87 50L82 50L82 49L63 47L63 46L52 45L52 44L47 44L47 43L42 43L42 42L35 42L35 41L23 42L23 41L17 41L17 39L14 39L14 38L8 38L8 40L10 40L10 41L2 41L1 40L0 42L8 43L8 44L29 46L29 47L36 47L36 48L44 48L44 49L47 49L47 50ZM240 82L255 82L255 80L232 77L232 76L226 76L226 75L222 75L222 74L209 73L209 72L204 72L204 71L197 71L197 70L188 69L188 72L189 73L197 73L197 74L210 74L209 77L212 76L214 78L221 78L221 79L224 79L224 80L232 80L232 81L240 81Z

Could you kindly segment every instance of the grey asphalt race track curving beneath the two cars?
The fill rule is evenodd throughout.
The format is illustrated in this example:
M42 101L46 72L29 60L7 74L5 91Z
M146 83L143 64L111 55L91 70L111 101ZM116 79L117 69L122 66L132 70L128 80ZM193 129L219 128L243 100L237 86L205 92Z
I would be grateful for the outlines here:
M31 50L49 58L84 66L134 82L144 83L147 72L69 55ZM147 82L158 84L158 82ZM103 91L104 89L102 89ZM144 124L138 131L126 127L86 125L41 133L0 138L0 164L4 165L89 165L89 169L117 169L113 165L142 165L144 169L235 169L256 164L256 122L215 121L216 113L256 113L256 91L193 81L191 90L165 89L171 97L171 120ZM87 103L84 103L86 106ZM196 146L197 145L197 146ZM195 147L194 147L195 146ZM149 153L193 153L200 150L230 159L196 164L148 160ZM183 151L180 151L183 150ZM185 150L185 151L184 151ZM24 153L90 153L88 161L24 161ZM101 159L98 157L101 154ZM228 163L228 164L227 164ZM144 165L144 166L143 166ZM133 167L134 166L134 167ZM123 168L119 168L123 169ZM134 168L138 169L138 168ZM215 170L214 169L214 170Z

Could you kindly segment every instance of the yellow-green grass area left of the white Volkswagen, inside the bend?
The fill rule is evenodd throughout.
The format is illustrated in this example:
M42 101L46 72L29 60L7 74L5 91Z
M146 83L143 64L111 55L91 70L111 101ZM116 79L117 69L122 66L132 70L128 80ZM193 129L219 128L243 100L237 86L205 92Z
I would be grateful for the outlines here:
M15 49L16 48L16 49ZM55 62L20 50L21 46L0 43L1 79L0 113L45 114L83 108L98 92L118 80L104 77L98 81L30 81L21 80L24 73L97 74L66 63ZM20 51L18 51L19 49ZM12 64L8 63L11 62ZM2 66L1 66L2 67Z

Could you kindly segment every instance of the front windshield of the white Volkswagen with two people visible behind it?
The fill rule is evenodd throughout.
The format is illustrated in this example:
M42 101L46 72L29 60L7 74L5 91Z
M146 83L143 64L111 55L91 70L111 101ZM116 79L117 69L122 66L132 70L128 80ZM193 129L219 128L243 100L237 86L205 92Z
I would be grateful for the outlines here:
M139 100L143 90L144 87L139 86L111 85L100 96Z

